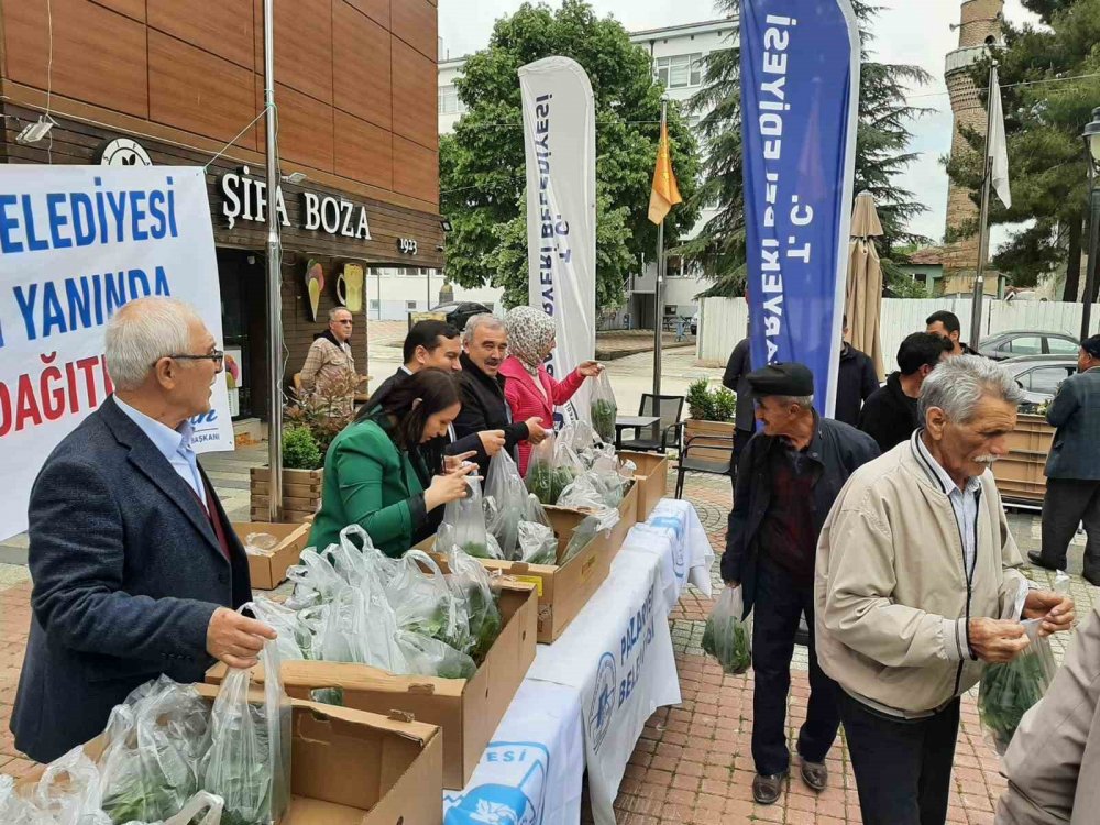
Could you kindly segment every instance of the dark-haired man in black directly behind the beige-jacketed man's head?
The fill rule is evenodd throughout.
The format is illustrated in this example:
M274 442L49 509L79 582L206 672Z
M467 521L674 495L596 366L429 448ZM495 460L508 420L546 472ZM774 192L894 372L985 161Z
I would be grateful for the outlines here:
M898 348L900 372L887 376L859 411L859 429L873 438L882 452L909 441L921 426L916 399L921 386L936 365L947 358L950 342L931 332L914 332Z

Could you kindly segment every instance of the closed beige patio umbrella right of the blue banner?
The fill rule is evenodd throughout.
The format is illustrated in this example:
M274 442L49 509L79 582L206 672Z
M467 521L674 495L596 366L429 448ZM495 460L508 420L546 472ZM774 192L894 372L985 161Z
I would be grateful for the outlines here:
M861 191L856 196L851 213L844 307L848 316L851 345L871 356L879 381L886 377L879 329L882 312L882 265L872 239L881 234L882 223L875 209L875 198L870 193Z

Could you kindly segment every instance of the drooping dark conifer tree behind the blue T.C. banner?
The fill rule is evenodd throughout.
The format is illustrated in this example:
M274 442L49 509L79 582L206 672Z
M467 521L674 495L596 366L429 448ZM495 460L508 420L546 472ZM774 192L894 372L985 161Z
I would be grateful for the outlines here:
M718 0L719 13L733 14L738 0ZM879 254L889 266L895 244L927 242L909 231L909 221L927 211L912 191L897 185L895 177L916 160L906 152L912 140L910 121L928 110L908 102L911 86L931 77L919 66L883 64L872 59L871 24L879 7L854 0L860 22L862 62L860 68L859 125L856 135L855 193L875 196L884 235L878 240ZM714 285L703 296L741 295L745 288L745 216L741 189L740 51L712 53L704 88L692 99L694 111L703 113L700 131L706 163L696 204L717 201L718 213L703 231L681 248L681 252ZM899 288L904 286L899 284Z

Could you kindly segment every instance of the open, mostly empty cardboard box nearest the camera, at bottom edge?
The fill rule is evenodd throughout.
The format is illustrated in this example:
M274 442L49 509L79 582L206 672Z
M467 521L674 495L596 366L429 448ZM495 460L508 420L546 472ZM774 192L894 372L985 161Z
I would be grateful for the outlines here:
M213 701L218 689L196 685ZM253 694L263 701L258 692ZM287 825L440 825L443 743L439 728L344 707L292 700ZM85 745L96 759L100 736ZM20 780L37 782L45 767Z

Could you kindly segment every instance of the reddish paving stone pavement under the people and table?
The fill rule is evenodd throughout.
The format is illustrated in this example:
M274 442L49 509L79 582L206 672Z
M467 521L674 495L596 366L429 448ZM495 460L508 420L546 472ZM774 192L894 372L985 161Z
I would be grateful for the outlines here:
M211 472L231 518L245 518L249 507L246 485L242 487L232 482L246 480L249 466L262 464L264 457L263 448L255 448L204 458L204 465ZM670 475L669 482L672 490L674 477ZM721 553L730 506L728 480L692 474L685 497L695 504L715 552ZM1022 551L1038 546L1037 517L1012 514L1010 526ZM1081 543L1080 539L1075 541L1078 557ZM713 571L716 587L721 586L717 566L715 563ZM1046 571L1027 572L1044 584L1052 581ZM1078 615L1087 615L1098 590L1074 576L1072 593ZM824 793L817 795L800 779L793 779L777 804L761 806L752 802L752 672L726 675L715 661L703 654L703 627L712 603L713 600L690 587L670 616L683 701L675 707L659 710L647 724L615 803L620 825L712 825L719 822L853 825L861 822L843 733L827 760L832 776ZM29 622L26 569L0 564L0 772L15 776L33 767L15 751L8 733ZM1055 638L1057 658L1062 658L1067 641L1065 637ZM810 692L806 671L806 651L796 648L788 721L792 751L798 726L805 719ZM976 698L971 693L963 701L948 814L950 823L989 825L993 822L997 799L1005 787L998 767L996 754L982 738ZM582 820L592 821L586 806Z

